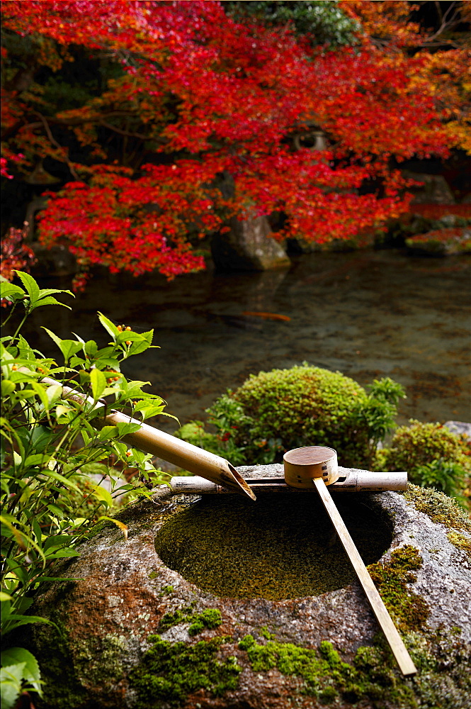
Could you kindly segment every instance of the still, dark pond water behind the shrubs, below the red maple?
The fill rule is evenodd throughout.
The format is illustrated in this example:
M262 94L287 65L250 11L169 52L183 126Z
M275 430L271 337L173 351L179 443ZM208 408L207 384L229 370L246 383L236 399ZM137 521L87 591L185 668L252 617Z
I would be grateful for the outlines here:
M208 268L171 283L103 274L72 313L37 311L37 345L57 356L39 325L104 344L97 310L133 330L154 328L161 349L130 360L125 374L150 381L181 423L204 419L205 408L249 374L303 361L362 385L381 376L399 381L407 389L399 423L470 421L470 270L467 257L376 250L302 255L290 269L254 274ZM42 279L42 286L70 284ZM290 319L246 314L254 312ZM169 418L154 423L177 428Z

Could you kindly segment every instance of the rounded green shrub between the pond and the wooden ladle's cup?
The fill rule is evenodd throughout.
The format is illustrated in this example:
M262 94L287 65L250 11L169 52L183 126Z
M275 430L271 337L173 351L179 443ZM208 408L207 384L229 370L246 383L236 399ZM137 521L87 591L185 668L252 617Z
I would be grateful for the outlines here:
M273 369L251 375L208 409L208 423L187 424L179 435L234 464L267 464L285 450L328 445L343 465L368 466L375 449L392 430L400 384L374 381L369 393L340 372L311 367Z

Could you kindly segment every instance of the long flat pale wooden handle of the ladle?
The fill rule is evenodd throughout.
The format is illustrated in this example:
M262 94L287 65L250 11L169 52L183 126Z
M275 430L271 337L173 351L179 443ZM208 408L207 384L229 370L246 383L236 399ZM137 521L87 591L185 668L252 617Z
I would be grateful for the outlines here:
M397 628L392 622L391 616L387 612L387 608L382 602L381 596L378 593L375 584L373 584L370 574L368 574L368 569L365 564L363 564L363 559L360 554L358 554L358 549L353 543L353 539L344 524L344 520L339 514L339 510L337 510L334 505L334 501L332 500L330 493L324 484L324 480L322 478L313 478L312 481L316 486L319 497L321 498L322 503L331 518L331 522L339 535L339 539L348 554L348 559L350 559L353 569L355 569L356 575L358 576L358 581L360 581L363 586L363 591L365 591L366 598L368 598L368 601L370 602L373 613L376 616L376 620L378 620L381 630L384 632L386 640L390 644L392 654L394 654L396 658L399 669L406 677L416 674L416 666L414 665L409 652L407 652L407 648L404 645L404 642L402 642L402 638L399 635L399 632L397 632Z

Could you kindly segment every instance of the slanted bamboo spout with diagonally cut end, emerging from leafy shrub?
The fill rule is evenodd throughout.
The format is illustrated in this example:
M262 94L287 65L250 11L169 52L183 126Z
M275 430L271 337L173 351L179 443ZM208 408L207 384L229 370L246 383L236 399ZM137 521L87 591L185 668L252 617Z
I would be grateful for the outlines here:
M50 377L44 377L42 381L45 381L46 384L58 384L55 379L50 379ZM82 404L90 403L93 408L105 406L101 401L97 402L91 396L85 396L85 394L72 389L70 386L62 386L62 389L63 398L70 398ZM244 497L251 498L251 500L256 499L242 475L225 458L171 436L169 433L147 425L147 423L141 423L119 411L112 411L106 415L100 420L99 425L101 427L105 425L115 426L117 423L135 423L140 427L134 433L128 433L123 436L122 440L127 445L139 448L146 453L157 455L159 458L200 475L212 483L229 489L231 492L239 493Z

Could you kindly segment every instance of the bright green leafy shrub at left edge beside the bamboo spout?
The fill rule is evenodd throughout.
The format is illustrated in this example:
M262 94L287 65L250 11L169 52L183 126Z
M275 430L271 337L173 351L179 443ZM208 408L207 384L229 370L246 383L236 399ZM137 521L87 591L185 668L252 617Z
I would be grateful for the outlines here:
M42 290L29 274L17 274L23 287L8 281L0 284L1 297L11 303L6 318L10 329L16 320L13 335L0 341L3 635L21 625L48 622L28 615L28 608L39 586L53 580L56 560L79 556L77 544L98 520L110 519L106 513L113 510L116 496L149 496L146 483L151 478L161 482L150 456L122 440L137 424L101 424L110 403L113 410L127 410L142 419L164 408L159 396L142 391L146 382L127 381L120 373L125 359L152 347L152 331L123 332L101 314L112 340L106 347L78 336L62 340L47 330L62 356L63 362L57 364L33 350L21 328L35 308L69 307L55 298L69 291ZM116 468L137 469L144 485L120 482L118 487L119 474L111 460ZM89 473L96 473L97 465L101 481L108 479L110 489L91 481ZM123 523L111 522L126 535ZM14 671L4 672L10 693L16 682L21 686L32 681L28 661L18 659L13 666Z

